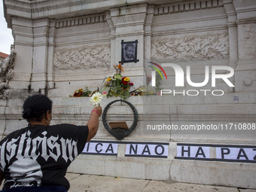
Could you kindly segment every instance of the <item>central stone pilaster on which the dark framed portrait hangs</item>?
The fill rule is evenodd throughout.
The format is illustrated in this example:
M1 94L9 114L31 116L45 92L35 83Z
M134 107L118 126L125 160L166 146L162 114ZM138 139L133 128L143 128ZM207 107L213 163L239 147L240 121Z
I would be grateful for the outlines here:
M145 20L147 17L148 4L111 8L110 11L113 24L113 26L110 25L110 28L114 29L114 31L111 31L111 57L114 57L111 59L111 62L117 64L121 60L121 41L137 40L137 59L139 59L139 61L124 63L123 66L126 70L122 74L129 75L131 80L136 82L136 87L140 87L143 85L143 75L145 75Z

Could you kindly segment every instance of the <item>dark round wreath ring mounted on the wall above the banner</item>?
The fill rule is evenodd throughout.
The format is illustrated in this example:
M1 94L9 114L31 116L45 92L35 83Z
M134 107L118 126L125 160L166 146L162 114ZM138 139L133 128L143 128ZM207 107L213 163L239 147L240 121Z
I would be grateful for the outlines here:
M118 99L118 100L114 100L113 102L109 102L108 105L105 106L104 108L104 111L103 111L103 114L102 114L102 122L103 122L103 125L105 127L105 129L108 131L108 133L110 133L112 136L115 136L115 133L114 131L108 126L108 123L105 119L105 116L107 114L107 111L108 111L108 108L110 105L112 105L114 102L125 102L127 105L130 106L130 108L133 109L133 114L134 114L134 120L133 120L133 124L132 126L130 126L129 130L126 130L125 133L124 133L124 136L128 136L130 133L133 132L133 130L135 130L136 126L137 126L137 122L138 122L138 112L136 110L136 108L133 106L132 103L130 102L127 102L125 100L122 100L122 99Z

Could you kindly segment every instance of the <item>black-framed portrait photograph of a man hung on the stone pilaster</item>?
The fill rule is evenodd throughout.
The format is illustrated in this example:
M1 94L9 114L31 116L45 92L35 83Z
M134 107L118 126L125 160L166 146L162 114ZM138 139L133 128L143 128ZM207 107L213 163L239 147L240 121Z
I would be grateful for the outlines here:
M138 40L136 41L121 41L122 44L122 58L120 63L125 62L139 62L139 59L137 59L137 47L138 47Z

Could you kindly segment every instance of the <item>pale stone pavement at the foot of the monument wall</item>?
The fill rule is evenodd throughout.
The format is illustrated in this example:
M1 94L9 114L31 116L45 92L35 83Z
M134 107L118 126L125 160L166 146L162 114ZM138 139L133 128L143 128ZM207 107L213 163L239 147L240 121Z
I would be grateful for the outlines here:
M66 175L71 187L71 192L97 192L97 191L142 191L142 192L254 192L250 189L237 189L236 187L221 187L206 184L187 184L171 181L150 181L140 179L108 177L103 175L78 175L68 173Z

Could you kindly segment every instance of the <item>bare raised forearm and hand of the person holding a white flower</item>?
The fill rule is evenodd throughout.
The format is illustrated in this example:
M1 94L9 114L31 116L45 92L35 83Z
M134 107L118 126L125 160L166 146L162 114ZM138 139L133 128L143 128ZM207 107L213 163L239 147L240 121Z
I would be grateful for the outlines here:
M87 142L90 142L90 139L93 139L93 137L96 135L99 128L99 117L101 115L102 115L101 107L93 108L93 111L90 114L90 119L87 122L88 130L89 130Z

